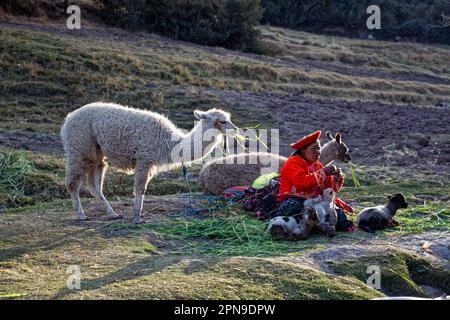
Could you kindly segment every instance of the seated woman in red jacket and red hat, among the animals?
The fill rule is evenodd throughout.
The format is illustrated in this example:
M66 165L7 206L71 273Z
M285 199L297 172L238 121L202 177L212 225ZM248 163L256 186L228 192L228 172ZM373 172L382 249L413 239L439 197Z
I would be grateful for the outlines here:
M296 151L281 169L280 193L277 196L277 200L280 202L278 215L298 214L303 211L303 202L306 199L322 195L327 188L333 188L335 192L338 192L344 184L341 168L324 167L319 162L320 133L320 131L316 131L291 144ZM338 206L336 208L338 214L336 230L352 230L353 224L347 220L342 210L346 209L352 212L352 209L340 199L337 199L336 205Z

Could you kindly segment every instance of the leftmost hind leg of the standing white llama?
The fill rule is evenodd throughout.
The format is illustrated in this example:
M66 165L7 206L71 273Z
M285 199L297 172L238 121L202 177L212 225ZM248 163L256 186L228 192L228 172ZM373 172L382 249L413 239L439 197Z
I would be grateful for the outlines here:
M80 158L68 158L66 167L66 188L80 220L87 220L80 201L81 181L89 168L89 163ZM90 168L89 168L90 169Z

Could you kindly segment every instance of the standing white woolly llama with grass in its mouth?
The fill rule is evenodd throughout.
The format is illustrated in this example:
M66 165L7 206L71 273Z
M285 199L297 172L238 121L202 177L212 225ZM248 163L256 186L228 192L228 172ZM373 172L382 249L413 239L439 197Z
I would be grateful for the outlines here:
M87 176L88 189L100 198L108 216L117 219L103 195L106 159L123 170L134 170L134 223L141 222L144 193L150 179L162 170L181 166L174 161L177 146L192 147L211 130L214 142L201 141L200 157L210 153L223 140L226 130L234 129L230 114L219 109L194 111L200 120L189 133L183 133L166 117L145 110L132 109L112 103L92 103L70 113L61 129L66 155L66 188L80 220L86 220L81 207L79 189ZM191 150L188 151L189 154ZM181 151L181 150L180 150ZM197 159L192 159L197 160Z

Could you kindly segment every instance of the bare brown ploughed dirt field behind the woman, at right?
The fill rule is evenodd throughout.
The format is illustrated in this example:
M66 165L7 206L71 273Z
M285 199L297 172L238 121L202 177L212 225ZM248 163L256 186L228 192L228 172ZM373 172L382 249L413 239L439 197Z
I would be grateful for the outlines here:
M274 93L213 93L230 104L249 107L254 112L270 112L278 119L283 155L291 152L291 142L321 128L323 132L342 133L355 163L448 172L448 108L317 100ZM409 152L407 156L388 158L389 150Z

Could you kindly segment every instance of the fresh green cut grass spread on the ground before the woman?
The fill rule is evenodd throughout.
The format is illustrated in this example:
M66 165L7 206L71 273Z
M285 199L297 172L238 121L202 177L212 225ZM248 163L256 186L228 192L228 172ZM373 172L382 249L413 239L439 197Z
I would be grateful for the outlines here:
M136 237L152 234L164 241L174 242L176 246L169 249L171 254L189 251L210 256L267 257L305 254L327 243L327 239L319 235L304 242L273 241L266 231L267 222L250 217L237 208L228 208L225 212L215 212L203 218L186 219L186 216L181 216L152 221L135 229L120 223L114 223L109 228L119 234L121 229L126 229Z

